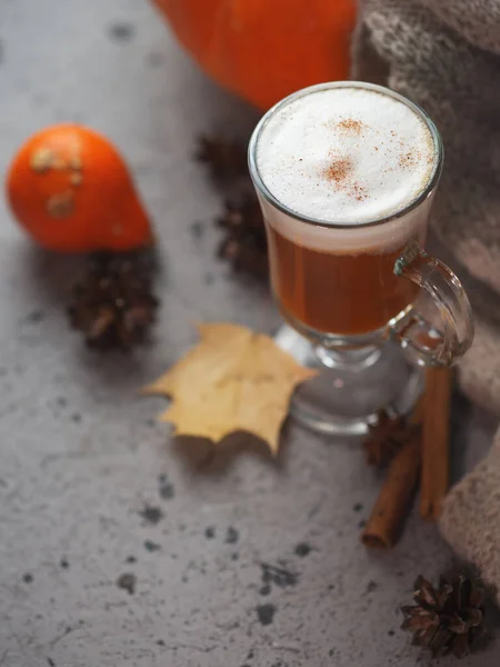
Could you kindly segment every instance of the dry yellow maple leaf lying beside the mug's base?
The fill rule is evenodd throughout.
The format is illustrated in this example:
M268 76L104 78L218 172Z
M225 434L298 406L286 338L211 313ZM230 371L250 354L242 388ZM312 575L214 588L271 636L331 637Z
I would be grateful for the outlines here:
M264 440L272 454L293 389L317 371L299 366L270 338L231 323L199 325L200 342L143 389L169 396L160 416L178 436L218 442L234 431Z

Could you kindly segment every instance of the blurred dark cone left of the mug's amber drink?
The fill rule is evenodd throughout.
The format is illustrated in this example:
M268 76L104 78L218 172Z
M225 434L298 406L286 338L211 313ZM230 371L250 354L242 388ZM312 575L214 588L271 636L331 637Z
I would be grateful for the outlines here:
M267 277L268 242L257 197L248 196L237 206L227 203L218 225L226 231L219 257L229 260L237 271Z

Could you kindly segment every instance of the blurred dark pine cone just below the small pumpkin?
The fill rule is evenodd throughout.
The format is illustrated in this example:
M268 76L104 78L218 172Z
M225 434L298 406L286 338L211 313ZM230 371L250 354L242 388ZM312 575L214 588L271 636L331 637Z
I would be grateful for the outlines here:
M91 256L84 282L72 289L71 326L99 349L129 350L144 342L159 306L151 273L142 253Z

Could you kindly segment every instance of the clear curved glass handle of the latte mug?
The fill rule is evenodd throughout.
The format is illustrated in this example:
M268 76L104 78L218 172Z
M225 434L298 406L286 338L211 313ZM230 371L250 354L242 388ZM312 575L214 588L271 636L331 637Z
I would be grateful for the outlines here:
M474 336L472 310L460 280L417 242L404 248L394 263L394 273L424 290L439 312L440 322L431 325L412 307L392 323L392 336L418 364L450 366L467 352Z

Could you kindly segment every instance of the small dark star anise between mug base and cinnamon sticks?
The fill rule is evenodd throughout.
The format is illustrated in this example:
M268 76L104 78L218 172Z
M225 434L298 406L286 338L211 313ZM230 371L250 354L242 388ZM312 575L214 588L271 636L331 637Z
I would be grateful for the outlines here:
M367 464L377 467L387 466L402 445L408 442L411 432L411 427L407 425L404 417L389 416L381 410L377 424L370 426L368 437L362 444Z

